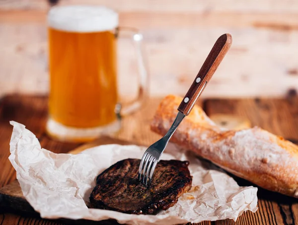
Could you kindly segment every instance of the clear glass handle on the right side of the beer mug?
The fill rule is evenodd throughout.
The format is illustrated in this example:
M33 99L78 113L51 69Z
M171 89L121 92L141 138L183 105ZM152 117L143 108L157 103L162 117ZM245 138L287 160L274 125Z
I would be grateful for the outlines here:
M119 35L120 38L128 38L133 41L139 68L139 87L136 99L125 105L121 103L116 105L115 113L121 117L135 112L144 104L149 92L149 75L142 48L143 35L136 28L118 27L116 28L115 37L118 38Z

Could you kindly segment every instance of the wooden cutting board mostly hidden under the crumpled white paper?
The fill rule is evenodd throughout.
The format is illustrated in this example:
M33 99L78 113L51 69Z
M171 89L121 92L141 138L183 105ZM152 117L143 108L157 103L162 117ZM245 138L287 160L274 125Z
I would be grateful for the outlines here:
M87 148L91 148L91 147L94 147L97 145L103 145L103 144L128 145L128 144L138 144L138 143L132 143L125 140L103 136L98 138L97 140L83 144L78 148L75 148L74 150L69 151L68 153L78 154ZM30 206L30 204L26 201L25 197L23 196L23 193L21 191L20 185L17 180L13 181L12 183L0 189L0 207L10 208L12 210L16 210L20 212L37 214L34 211L34 209Z

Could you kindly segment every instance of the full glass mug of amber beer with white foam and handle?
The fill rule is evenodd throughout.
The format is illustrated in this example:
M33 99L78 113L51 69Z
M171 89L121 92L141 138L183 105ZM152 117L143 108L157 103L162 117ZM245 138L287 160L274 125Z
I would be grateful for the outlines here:
M117 38L132 39L139 68L139 93L118 103ZM147 95L142 34L118 27L118 14L104 6L54 6L48 13L49 117L47 133L66 141L88 141L120 129L117 115L140 107Z

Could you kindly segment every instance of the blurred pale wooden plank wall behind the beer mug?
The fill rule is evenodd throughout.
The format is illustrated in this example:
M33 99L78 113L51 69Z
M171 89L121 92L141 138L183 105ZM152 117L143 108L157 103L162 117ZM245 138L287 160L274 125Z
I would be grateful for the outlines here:
M297 0L61 0L104 4L145 38L150 95L184 95L218 36L233 44L203 97L283 97L298 89ZM0 1L0 95L47 93L46 0ZM119 86L132 96L132 46L119 44Z

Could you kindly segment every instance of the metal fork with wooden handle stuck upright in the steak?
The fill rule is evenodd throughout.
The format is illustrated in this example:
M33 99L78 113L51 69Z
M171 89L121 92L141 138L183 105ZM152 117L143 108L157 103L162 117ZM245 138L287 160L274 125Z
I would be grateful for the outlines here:
M145 151L140 163L138 179L146 186L148 184L150 185L157 162L159 161L159 158L171 136L184 117L187 116L193 109L202 91L205 89L212 75L222 62L231 43L232 37L230 34L223 34L217 39L194 82L180 103L178 107L178 114L170 129L160 140L153 143Z

